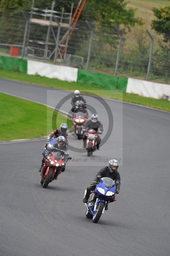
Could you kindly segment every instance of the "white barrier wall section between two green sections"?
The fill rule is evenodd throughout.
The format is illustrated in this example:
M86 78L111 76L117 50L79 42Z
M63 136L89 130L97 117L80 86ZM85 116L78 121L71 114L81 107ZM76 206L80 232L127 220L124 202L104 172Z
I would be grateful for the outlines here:
M78 68L58 66L40 61L27 61L27 74L57 78L63 81L76 82Z

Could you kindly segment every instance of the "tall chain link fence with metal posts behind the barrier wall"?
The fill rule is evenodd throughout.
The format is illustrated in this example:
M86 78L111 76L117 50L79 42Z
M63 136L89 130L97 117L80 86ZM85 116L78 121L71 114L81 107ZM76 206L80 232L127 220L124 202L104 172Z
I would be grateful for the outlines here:
M34 13L41 24L30 22L32 13L0 15L0 55L170 83L170 46L154 36L152 39L152 31L150 35L137 27L122 34L117 26L78 21L70 40L63 46L62 39L71 29L69 14L64 16L61 11L42 15L36 10ZM47 21L54 23L47 25ZM62 49L65 51L61 56Z

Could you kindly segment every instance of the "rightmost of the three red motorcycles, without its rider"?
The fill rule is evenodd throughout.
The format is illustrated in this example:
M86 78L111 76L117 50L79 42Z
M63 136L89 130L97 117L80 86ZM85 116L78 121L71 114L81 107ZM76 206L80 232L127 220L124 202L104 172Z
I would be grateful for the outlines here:
M101 133L101 132L98 132ZM98 137L98 133L94 130L94 129L89 129L89 131L87 132L86 136L86 150L87 150L87 156L91 157L92 156L92 152L96 150L96 140Z

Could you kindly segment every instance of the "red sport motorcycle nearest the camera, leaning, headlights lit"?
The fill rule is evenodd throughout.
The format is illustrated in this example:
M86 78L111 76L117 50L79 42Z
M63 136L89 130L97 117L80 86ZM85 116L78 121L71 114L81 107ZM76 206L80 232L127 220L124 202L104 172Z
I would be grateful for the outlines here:
M58 175L62 172L62 169L66 166L64 157L61 154L62 150L58 152L52 152L46 157L44 166L41 169L41 185L46 188L52 180L57 180Z

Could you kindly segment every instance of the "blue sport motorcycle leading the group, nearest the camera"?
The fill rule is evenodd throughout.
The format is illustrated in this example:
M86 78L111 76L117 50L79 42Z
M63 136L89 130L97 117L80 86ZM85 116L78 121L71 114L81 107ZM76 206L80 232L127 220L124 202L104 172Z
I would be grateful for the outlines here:
M116 201L115 193L115 181L109 177L101 178L95 190L90 194L88 202L85 203L87 208L86 218L90 218L94 223L97 223L108 204Z

